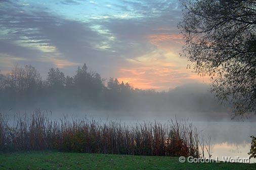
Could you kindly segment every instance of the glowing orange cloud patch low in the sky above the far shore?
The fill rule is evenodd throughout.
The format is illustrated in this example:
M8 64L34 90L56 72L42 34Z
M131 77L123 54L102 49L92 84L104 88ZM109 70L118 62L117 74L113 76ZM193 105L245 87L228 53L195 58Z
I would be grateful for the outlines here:
M200 77L186 69L187 59L179 54L160 49L150 51L134 59L127 59L129 66L118 71L119 82L129 82L141 89L168 90L184 83L210 82L208 77Z

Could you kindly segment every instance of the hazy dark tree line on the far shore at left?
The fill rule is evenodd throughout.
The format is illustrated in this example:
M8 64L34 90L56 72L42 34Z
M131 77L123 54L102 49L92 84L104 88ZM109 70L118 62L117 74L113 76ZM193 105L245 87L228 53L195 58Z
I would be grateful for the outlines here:
M127 106L131 95L156 94L154 90L133 88L116 78L107 81L86 64L78 67L73 76L66 76L59 68L51 68L46 80L31 65L15 65L11 72L0 74L0 108L37 106L38 103L55 106L97 105L97 107Z

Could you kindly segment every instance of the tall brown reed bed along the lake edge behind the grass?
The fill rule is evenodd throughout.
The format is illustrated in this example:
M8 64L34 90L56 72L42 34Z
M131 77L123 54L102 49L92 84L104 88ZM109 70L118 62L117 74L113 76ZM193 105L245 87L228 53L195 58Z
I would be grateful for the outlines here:
M188 121L161 124L144 122L123 125L115 121L83 118L51 120L40 110L16 118L10 125L0 114L0 150L29 151L57 149L67 152L194 156L200 157L202 141Z

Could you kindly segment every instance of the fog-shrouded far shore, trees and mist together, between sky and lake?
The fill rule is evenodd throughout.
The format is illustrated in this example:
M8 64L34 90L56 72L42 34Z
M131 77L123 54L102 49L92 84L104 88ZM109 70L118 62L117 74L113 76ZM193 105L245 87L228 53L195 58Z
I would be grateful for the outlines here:
M106 81L100 74L88 72L86 65L78 68L73 77L52 68L47 80L42 80L32 66L16 66L11 73L1 76L1 84L0 109L10 116L40 109L51 112L55 118L65 114L125 121L231 118L230 106L221 105L210 93L208 84L184 84L161 92L142 90L115 78Z

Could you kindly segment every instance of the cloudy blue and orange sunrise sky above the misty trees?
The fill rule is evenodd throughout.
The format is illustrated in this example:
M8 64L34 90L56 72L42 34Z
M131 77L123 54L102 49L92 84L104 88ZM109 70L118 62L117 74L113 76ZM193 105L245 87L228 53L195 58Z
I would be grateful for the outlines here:
M187 69L172 1L0 0L0 70L32 65L46 78L60 68L74 75L86 63L103 78L141 89L208 83Z

